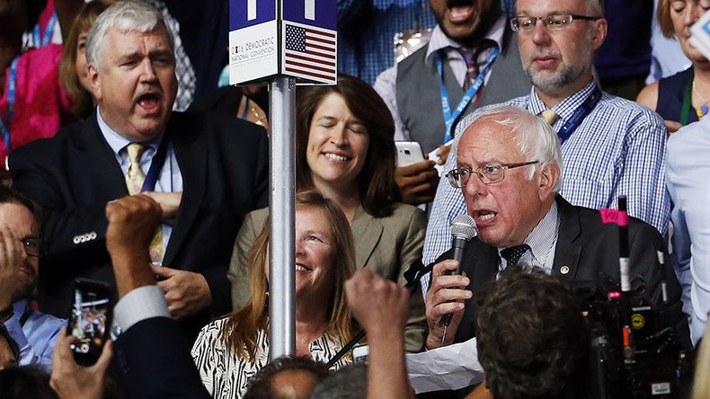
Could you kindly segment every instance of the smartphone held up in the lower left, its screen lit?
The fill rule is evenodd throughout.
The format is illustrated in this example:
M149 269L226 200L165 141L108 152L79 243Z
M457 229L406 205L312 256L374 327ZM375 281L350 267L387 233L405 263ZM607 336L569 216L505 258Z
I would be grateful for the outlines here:
M112 309L113 299L108 285L89 279L75 280L67 335L76 338L69 346L76 363L91 366L99 359L109 337Z

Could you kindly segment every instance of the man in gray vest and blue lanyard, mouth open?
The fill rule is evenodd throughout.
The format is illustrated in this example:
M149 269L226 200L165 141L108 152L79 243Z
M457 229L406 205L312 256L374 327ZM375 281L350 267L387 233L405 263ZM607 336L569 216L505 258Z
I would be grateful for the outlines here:
M500 0L430 0L437 26L427 46L377 77L375 90L395 119L395 140L420 143L427 154L439 148L444 164L454 127L476 108L529 92L515 34ZM429 202L436 191L434 163L397 170L403 201Z

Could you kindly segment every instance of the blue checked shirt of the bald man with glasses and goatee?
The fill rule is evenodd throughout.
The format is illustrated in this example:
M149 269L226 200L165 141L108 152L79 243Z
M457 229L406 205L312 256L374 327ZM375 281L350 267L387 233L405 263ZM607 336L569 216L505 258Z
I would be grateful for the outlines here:
M560 129L593 89L594 82L557 104L553 110L559 119L553 129ZM505 105L522 107L536 115L546 110L535 88L529 95ZM471 124L473 117L473 114L466 115L458 123L457 137ZM597 106L562 146L562 196L572 205L599 209L617 208L618 196L626 195L629 215L665 234L670 217L664 175L667 136L658 114L635 102L603 93ZM456 148L452 148L444 171L457 167L454 154ZM463 192L452 188L442 175L427 226L424 264L448 251L450 221L465 212ZM422 287L428 286L429 277L425 276Z

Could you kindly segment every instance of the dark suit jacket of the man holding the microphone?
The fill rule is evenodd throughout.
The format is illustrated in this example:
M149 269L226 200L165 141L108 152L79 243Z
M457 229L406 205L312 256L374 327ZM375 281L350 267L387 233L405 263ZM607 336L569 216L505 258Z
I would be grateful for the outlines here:
M593 281L599 272L604 272L618 281L617 225L602 223L598 210L572 206L561 196L557 196L556 200L560 215L560 231L555 247L552 274L570 289L574 287L575 282ZM643 297L659 307L660 323L675 326L681 345L688 347L690 342L688 322L682 314L681 288L668 261L663 237L653 226L635 217L629 217L628 232L631 279L645 281ZM452 257L452 252L448 251L439 259ZM663 260L663 264L659 262L660 259ZM471 279L469 288L473 292L495 279L498 262L498 250L492 245L484 244L477 237L466 244L461 269L466 271ZM661 300L663 280L666 282L668 292L667 304L663 304ZM473 299L469 299L466 302L464 318L457 330L457 342L475 336L474 307Z

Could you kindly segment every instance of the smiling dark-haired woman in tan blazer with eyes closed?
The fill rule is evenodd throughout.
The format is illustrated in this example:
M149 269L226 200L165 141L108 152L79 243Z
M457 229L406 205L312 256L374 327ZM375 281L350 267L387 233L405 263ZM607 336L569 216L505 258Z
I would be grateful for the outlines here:
M364 81L340 75L335 86L298 91L296 130L297 190L318 191L342 209L359 268L404 285L404 271L422 258L426 218L397 202L395 124L385 102ZM250 213L237 235L228 273L235 308L252 292L246 254L267 218L268 209ZM426 320L421 291L411 304L407 350L418 351Z

